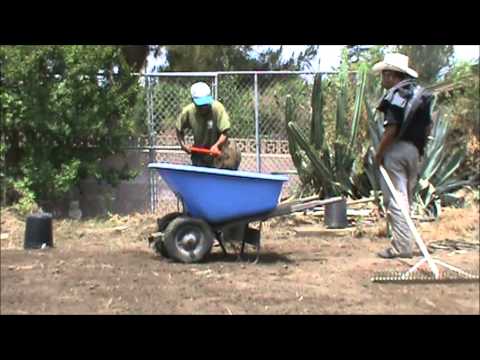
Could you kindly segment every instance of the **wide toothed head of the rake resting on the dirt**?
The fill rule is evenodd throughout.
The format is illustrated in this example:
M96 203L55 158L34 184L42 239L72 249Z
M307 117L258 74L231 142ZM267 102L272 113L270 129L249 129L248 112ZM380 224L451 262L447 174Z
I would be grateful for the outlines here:
M473 273L473 272L472 272ZM470 273L470 274L472 274ZM478 271L475 272L478 274ZM439 276L435 277L432 272L414 271L383 271L377 272L371 278L376 283L480 283L479 275L464 275L454 271L441 271Z

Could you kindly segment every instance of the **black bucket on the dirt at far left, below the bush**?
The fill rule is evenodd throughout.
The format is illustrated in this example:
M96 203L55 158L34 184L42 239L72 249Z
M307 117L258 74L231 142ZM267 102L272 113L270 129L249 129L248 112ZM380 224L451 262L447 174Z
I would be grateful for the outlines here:
M53 247L52 214L33 214L27 217L24 249Z

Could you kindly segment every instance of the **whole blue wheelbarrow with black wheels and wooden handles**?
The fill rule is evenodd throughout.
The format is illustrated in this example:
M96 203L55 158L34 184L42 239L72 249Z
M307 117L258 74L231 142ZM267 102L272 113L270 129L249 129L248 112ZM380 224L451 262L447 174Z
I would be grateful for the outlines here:
M279 205L288 180L284 175L167 163L148 167L159 172L183 210L158 219L158 232L149 237L149 243L163 256L184 263L202 261L215 240L225 255L226 242L241 244L239 258L245 244L254 246L257 262L263 221L342 200L299 199ZM259 229L250 226L253 222L260 222Z

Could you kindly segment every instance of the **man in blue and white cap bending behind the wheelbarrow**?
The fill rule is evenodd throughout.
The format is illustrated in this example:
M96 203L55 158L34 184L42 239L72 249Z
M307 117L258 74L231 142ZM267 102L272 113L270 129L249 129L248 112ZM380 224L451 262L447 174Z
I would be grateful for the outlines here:
M176 123L177 139L182 150L191 155L194 166L238 169L240 153L228 141L228 130L231 125L224 106L213 99L210 87L204 82L193 84L190 92L193 102L183 108ZM213 154L222 155L215 158L211 155L192 153L191 146L185 143L186 129L192 130L195 147L209 149Z

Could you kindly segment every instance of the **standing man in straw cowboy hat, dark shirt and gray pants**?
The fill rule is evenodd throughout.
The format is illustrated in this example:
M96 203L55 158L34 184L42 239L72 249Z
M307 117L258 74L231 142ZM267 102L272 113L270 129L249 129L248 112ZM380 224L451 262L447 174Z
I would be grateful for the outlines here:
M373 67L373 71L382 74L382 86L388 90L377 107L385 116L385 131L375 161L383 165L390 176L404 201L401 206L410 209L420 157L423 156L432 124L432 94L416 84L418 74L409 68L408 60L402 54L387 54ZM387 221L392 229L392 242L378 256L386 259L411 258L413 242L407 222L383 178L380 185Z

